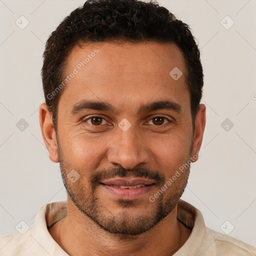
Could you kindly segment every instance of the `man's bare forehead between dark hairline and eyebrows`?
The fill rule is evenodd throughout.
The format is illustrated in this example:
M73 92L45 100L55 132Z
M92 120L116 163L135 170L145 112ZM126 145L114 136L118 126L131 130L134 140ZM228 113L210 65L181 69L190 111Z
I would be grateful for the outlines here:
M182 73L179 79L173 79L172 70ZM74 75L70 75L72 73ZM72 76L63 93L69 102L86 96L105 101L125 96L135 102L146 95L145 100L149 100L158 90L161 90L158 95L171 91L175 99L175 95L188 92L182 51L170 42L103 42L75 46L66 58L64 74Z

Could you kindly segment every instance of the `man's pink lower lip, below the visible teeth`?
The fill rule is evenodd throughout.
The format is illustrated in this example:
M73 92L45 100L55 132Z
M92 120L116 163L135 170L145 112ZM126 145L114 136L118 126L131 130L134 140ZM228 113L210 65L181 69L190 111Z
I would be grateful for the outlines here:
M109 191L118 199L133 200L138 199L148 193L148 191L152 188L153 184L132 189L109 186L105 184L100 184L100 186L104 187L107 191Z

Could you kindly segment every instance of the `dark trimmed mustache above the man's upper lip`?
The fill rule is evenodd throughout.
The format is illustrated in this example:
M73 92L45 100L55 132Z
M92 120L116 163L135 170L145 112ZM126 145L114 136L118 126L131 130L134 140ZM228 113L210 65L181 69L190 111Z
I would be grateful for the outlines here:
M100 170L93 173L90 177L90 183L95 186L100 183L102 179L114 178L114 177L141 177L155 180L155 183L164 184L164 175L159 171L152 171L146 168L133 168L125 169L121 166L113 167L106 170Z

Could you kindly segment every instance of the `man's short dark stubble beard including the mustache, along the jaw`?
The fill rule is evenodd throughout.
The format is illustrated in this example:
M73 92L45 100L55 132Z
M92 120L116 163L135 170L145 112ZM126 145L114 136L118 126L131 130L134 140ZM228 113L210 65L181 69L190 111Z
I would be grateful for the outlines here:
M156 190L158 191L158 189L160 190L166 182L163 174L159 171L151 171L145 168L136 168L132 170L124 169L122 167L112 168L104 171L101 170L100 172L97 171L97 173L92 174L89 179L90 185L85 187L84 183L82 183L81 175L84 170L76 169L81 176L74 183L67 178L67 174L73 168L71 168L70 164L64 162L59 143L58 156L64 186L68 196L71 198L77 209L105 231L124 236L138 235L146 232L173 210L186 187L190 169L189 165L186 171L178 177L177 181L173 182L166 189L166 192L160 193L159 197L155 199L154 202L148 202L147 208L139 210L136 209L137 205L132 200L117 200L121 210L118 211L118 214L114 214L104 206L97 196L98 180L100 180L101 177L153 177L158 181ZM176 169L173 169L174 172L175 170ZM114 207L116 208L116 202L113 203L115 203Z

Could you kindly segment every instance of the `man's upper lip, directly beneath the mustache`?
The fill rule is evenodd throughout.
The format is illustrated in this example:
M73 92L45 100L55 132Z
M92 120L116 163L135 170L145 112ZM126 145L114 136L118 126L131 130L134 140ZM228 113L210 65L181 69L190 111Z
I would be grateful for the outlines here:
M110 179L103 179L100 183L105 185L119 185L119 186L134 186L139 184L150 185L155 183L153 179L148 178L136 178L136 177L129 177L129 178L110 178Z

